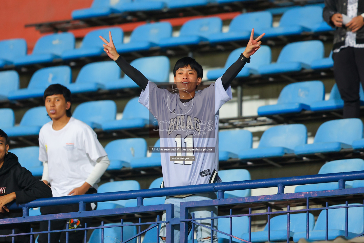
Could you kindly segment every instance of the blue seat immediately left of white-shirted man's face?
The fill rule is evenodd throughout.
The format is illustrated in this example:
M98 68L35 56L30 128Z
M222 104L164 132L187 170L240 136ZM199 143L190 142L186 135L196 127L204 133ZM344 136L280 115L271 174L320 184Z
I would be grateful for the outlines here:
M48 117L46 107L34 107L25 112L19 126L6 128L4 132L9 137L34 136L38 135L41 127L50 121L51 119Z

